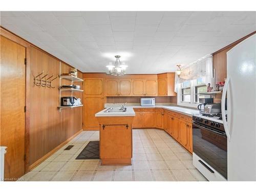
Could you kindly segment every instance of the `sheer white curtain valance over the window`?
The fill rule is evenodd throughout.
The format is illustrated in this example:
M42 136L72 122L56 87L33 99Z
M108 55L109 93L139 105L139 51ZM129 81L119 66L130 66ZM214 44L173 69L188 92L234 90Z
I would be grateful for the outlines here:
M206 56L188 67L181 69L181 75L175 74L175 92L178 93L178 85L184 81L205 77L206 84L211 83L214 86L212 55Z

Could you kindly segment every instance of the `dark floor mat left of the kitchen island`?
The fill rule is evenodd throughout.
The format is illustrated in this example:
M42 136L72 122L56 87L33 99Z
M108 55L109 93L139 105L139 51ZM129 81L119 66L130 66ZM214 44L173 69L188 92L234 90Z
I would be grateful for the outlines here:
M76 159L99 159L99 141L90 141Z

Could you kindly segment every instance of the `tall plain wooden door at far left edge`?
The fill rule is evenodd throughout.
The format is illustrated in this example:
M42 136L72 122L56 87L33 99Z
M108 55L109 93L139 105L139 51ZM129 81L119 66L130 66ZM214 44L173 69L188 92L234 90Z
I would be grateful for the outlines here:
M1 136L7 146L5 179L25 172L26 48L1 35Z

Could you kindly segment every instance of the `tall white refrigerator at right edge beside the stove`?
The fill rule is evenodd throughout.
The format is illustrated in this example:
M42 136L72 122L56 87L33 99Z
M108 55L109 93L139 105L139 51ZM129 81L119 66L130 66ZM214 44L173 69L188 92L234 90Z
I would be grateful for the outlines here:
M222 118L227 135L227 180L256 181L256 34L227 52Z

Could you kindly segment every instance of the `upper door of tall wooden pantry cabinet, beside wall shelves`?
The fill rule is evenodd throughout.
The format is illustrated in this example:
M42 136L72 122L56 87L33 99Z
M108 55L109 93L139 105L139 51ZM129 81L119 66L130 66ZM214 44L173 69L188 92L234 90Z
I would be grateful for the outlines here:
M103 78L84 78L85 97L103 97Z

